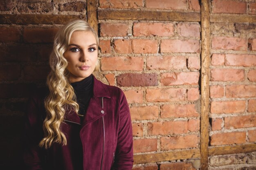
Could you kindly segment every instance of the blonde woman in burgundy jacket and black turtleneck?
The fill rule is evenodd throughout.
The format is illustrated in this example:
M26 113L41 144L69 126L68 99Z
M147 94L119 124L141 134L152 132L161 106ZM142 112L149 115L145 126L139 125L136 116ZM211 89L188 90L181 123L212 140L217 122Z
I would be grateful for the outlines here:
M27 169L132 168L132 128L124 93L92 75L99 68L98 45L97 33L83 20L68 22L56 34L48 89L38 89L29 99Z

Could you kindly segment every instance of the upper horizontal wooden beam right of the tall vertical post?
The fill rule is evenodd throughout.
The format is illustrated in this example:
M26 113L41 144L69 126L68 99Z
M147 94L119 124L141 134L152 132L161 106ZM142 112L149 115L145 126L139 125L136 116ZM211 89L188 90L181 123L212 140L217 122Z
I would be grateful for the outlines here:
M210 22L256 22L256 15L211 14Z

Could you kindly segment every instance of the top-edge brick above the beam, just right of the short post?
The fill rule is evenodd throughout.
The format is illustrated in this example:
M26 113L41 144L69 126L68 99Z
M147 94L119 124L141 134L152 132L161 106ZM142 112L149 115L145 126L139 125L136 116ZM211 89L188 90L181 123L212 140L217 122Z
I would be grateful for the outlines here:
M101 8L142 8L143 0L99 0Z

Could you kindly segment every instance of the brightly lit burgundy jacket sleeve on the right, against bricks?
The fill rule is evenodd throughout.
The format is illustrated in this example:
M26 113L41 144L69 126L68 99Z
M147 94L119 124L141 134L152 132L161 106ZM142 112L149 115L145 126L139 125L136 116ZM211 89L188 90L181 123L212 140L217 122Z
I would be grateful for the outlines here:
M130 110L124 95L120 90L120 122L117 138L115 162L111 170L131 170L133 163L132 124Z

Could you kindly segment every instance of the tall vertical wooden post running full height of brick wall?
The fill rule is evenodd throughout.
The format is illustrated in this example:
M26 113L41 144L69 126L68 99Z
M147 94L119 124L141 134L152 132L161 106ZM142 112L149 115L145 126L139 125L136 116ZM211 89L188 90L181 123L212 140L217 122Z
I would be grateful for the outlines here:
M210 0L201 2L201 139L200 170L208 170L209 145L209 77L210 77Z

